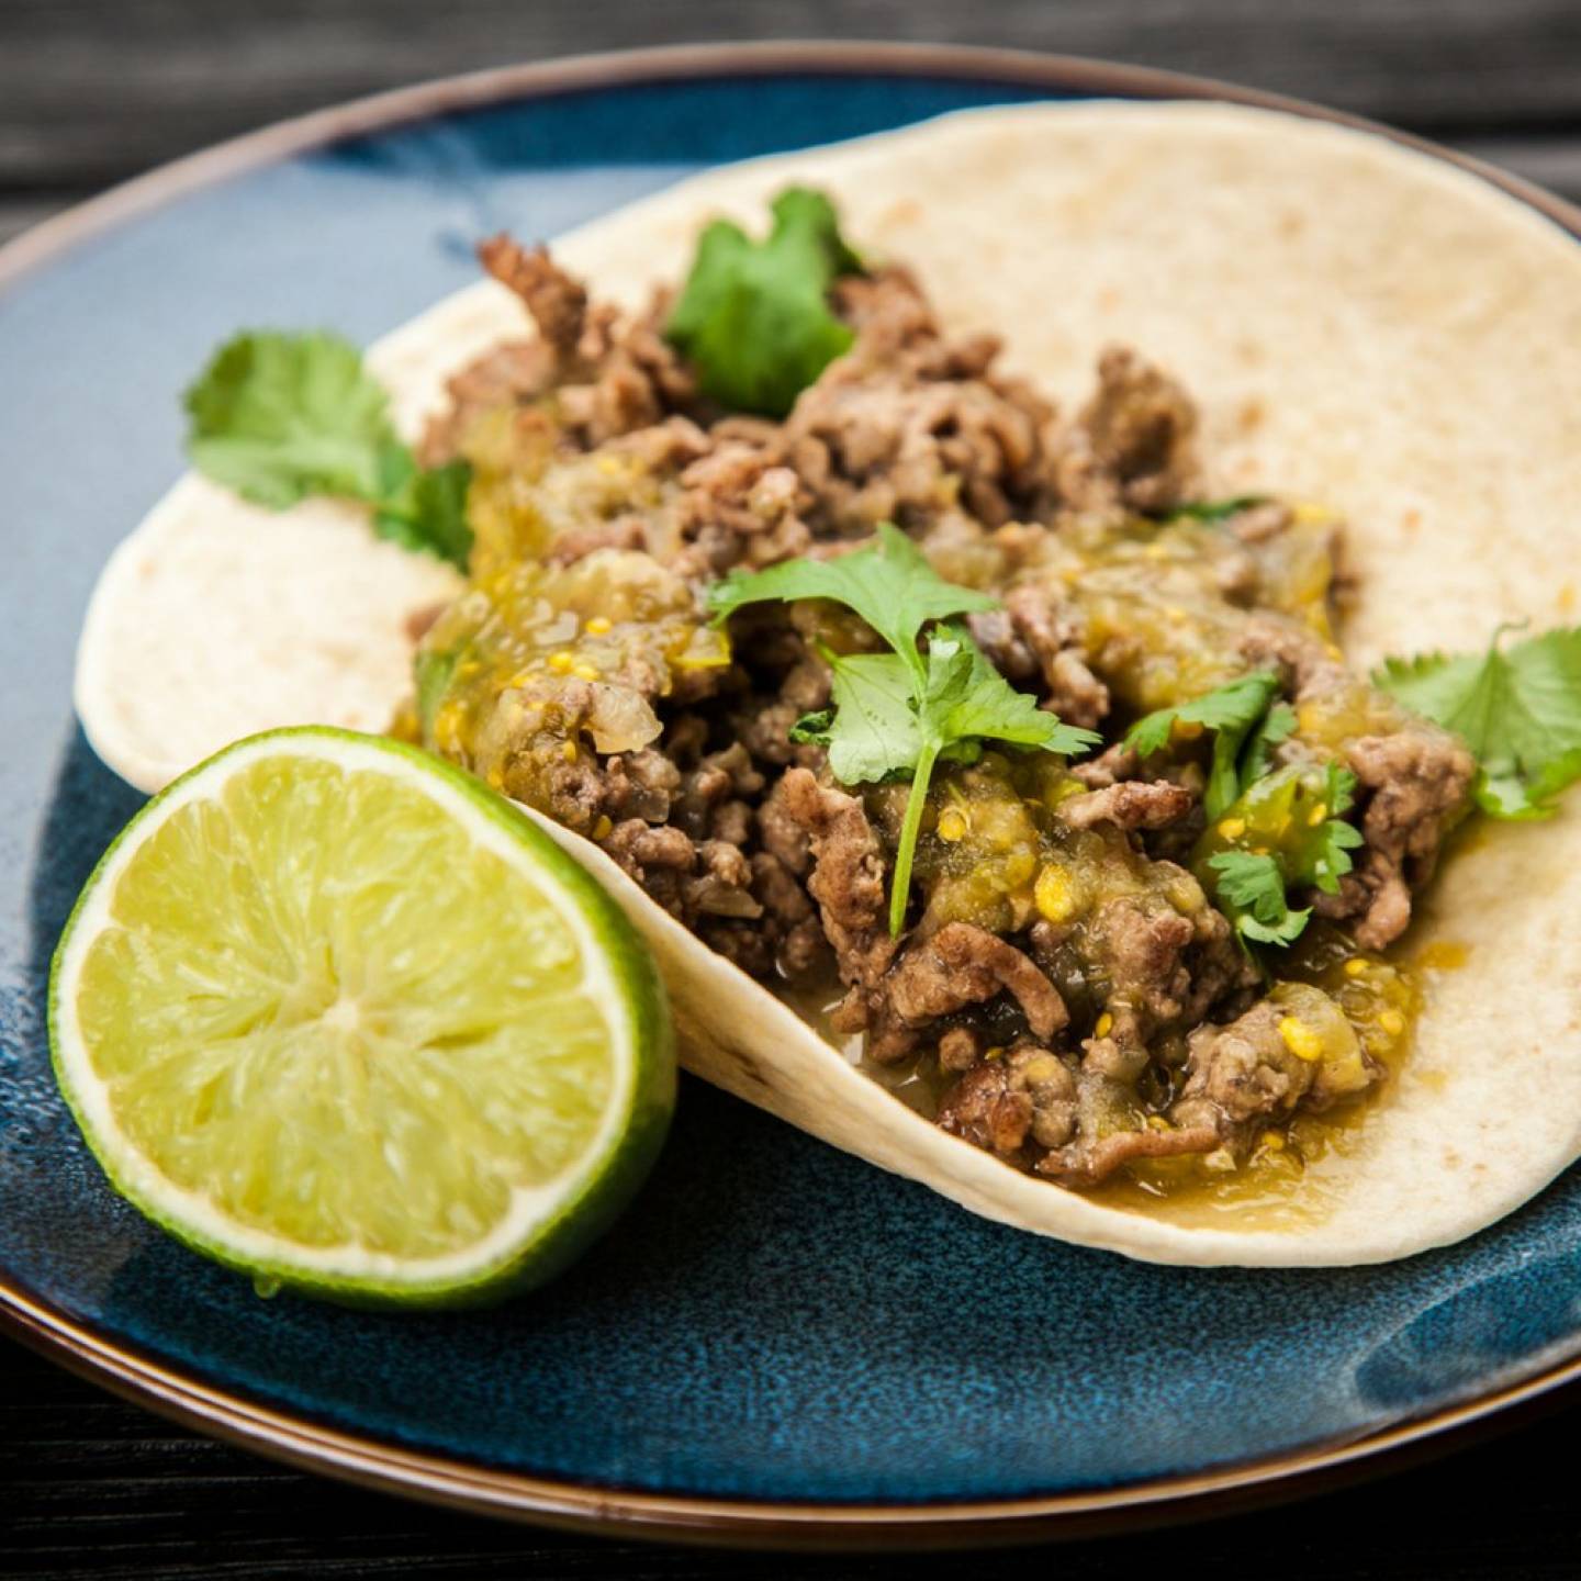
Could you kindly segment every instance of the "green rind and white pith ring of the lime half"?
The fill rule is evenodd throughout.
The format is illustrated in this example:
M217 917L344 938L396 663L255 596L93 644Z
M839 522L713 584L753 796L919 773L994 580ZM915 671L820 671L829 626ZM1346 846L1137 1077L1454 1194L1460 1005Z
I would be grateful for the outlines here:
M163 1176L125 1138L104 1086L77 1069L87 1051L74 993L82 960L108 919L115 879L183 805L218 794L250 764L307 757L392 775L460 819L485 849L515 865L577 939L587 993L618 1040L618 1081L593 1145L568 1176L517 1190L504 1224L463 1252L408 1258L357 1246L302 1247L217 1214L201 1194ZM57 1081L111 1184L198 1252L259 1289L296 1289L349 1304L466 1306L542 1284L621 1211L651 1168L675 1099L669 1006L653 958L626 915L580 865L509 802L462 770L381 737L311 726L237 741L169 784L100 858L57 945L49 985Z

